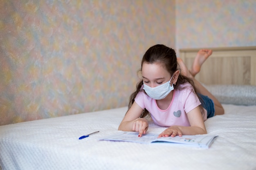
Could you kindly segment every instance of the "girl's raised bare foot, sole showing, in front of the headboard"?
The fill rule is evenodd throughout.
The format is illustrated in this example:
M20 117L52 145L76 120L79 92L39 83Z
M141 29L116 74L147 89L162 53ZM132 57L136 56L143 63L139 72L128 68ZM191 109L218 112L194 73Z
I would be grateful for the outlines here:
M192 67L190 68L190 73L193 77L197 73L199 73L202 64L204 63L205 60L212 54L212 50L209 49L201 49L198 51L197 55L195 56L195 60L193 62Z

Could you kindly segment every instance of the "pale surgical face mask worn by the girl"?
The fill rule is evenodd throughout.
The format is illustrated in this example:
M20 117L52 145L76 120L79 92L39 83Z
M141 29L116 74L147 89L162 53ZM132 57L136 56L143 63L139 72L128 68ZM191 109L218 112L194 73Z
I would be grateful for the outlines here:
M173 78L173 76L171 77L171 79L172 78ZM164 84L161 84L159 86L153 87L153 88L150 86L147 86L143 82L143 85L144 85L143 89L145 90L147 95L153 99L156 99L156 100L164 99L174 89L173 84L172 84L172 86L170 84L171 79L170 79L170 81L168 81Z

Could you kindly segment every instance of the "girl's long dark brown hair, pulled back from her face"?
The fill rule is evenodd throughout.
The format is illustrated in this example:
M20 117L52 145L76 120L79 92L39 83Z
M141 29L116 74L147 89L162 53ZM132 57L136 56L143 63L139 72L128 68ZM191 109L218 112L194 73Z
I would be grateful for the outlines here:
M166 70L171 74L173 75L173 73L177 70L180 70L180 67L178 66L178 62L177 62L177 57L176 57L176 53L173 49L165 46L165 45L162 45L162 44L157 44L157 45L154 45L154 46L151 46L147 51L146 53L144 54L142 60L141 60L141 68L139 69L138 72L141 72L142 70L142 64L146 62L148 64L153 64L153 63L163 63ZM186 82L189 82L193 88L194 88L194 91L195 93L197 93L197 90L195 88L195 85L194 85L194 82L192 79L190 79L189 77L186 77L182 74L179 74L178 76L178 79L177 79L177 82L176 84L174 85L174 88L175 89L180 89L180 84L184 84ZM130 107L132 106L132 104L134 103L135 101L135 97L137 96L137 94L140 92L140 91L143 91L144 93L146 93L142 88L141 86L143 85L143 79L141 79L137 85L136 85L136 91L133 92L131 95L130 95L130 102L129 102L129 105L128 105L128 110L130 109ZM198 98L200 98L198 96ZM202 109L202 105L200 105L200 110L201 112L203 113L203 109ZM141 116L140 117L146 117L149 115L149 112L148 110L144 109L141 113Z

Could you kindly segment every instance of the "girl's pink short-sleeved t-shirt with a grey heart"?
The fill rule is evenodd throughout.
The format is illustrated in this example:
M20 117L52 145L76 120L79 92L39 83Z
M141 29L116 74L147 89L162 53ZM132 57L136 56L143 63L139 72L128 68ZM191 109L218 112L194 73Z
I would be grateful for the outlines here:
M158 108L155 99L152 99L142 91L140 91L135 97L135 102L141 108L146 108L149 111L154 123L159 126L190 126L186 113L193 110L201 103L191 84L185 83L181 84L180 86L180 90L173 90L173 99L166 110L161 110ZM205 116L203 119L206 120L206 110L204 110L204 115Z

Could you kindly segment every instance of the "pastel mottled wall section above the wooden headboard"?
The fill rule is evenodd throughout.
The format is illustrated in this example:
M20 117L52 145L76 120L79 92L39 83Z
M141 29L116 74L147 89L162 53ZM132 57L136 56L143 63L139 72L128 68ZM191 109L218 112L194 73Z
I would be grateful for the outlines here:
M176 0L176 49L256 45L256 0Z

